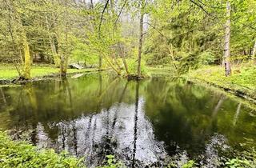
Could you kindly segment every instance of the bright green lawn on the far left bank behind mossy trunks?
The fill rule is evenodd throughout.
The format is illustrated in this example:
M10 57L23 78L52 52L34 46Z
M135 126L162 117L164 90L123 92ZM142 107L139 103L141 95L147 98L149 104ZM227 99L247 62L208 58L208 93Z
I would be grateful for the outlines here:
M95 71L97 69L82 69L82 70L75 70L75 69L68 69L68 74L74 74L74 73L82 73L82 72L90 72ZM32 66L31 69L31 78L40 78L46 75L50 74L58 74L59 69L55 68L54 66ZM0 65L0 79L14 79L18 78L18 71L15 70L15 67L10 64Z

